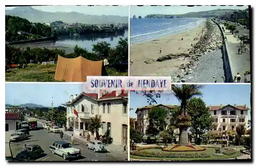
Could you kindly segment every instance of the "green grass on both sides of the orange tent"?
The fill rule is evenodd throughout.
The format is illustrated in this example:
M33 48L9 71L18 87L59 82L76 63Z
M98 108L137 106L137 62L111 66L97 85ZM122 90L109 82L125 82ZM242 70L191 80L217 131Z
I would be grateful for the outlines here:
M54 80L56 64L32 64L26 68L11 68L6 72L7 82L59 82ZM106 67L109 76L128 76L128 73L118 72L114 68Z

